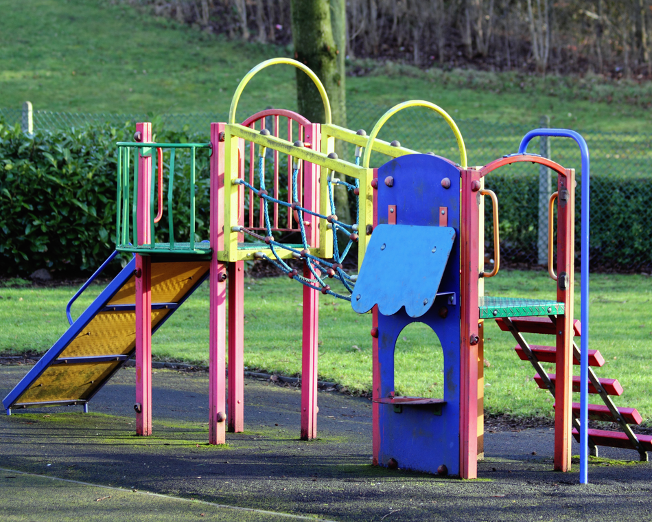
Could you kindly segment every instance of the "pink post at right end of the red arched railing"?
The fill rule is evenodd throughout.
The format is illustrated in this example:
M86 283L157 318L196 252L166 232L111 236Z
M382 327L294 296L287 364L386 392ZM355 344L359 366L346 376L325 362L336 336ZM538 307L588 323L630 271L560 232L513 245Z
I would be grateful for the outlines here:
M304 141L317 150L321 141L318 124L306 126ZM290 160L288 160L290 161ZM319 209L319 168L314 163L303 164L304 189L303 205L318 212ZM317 218L303 214L307 242L316 247L319 240ZM303 266L303 276L312 278L307 264ZM301 439L310 440L317 436L317 359L319 337L319 293L303 287L303 336L301 348Z

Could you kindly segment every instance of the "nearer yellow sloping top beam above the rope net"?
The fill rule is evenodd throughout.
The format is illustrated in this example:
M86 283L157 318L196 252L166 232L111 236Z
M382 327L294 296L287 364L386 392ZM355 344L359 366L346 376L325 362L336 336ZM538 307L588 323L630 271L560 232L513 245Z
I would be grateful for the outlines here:
M303 159L304 161L310 161L310 163L314 163L315 165L320 165L353 178L364 179L367 171L371 171L371 169L358 167L353 165L353 163L349 163L342 159L329 158L322 152L316 152L310 148L295 147L294 144L286 139L271 135L263 135L260 131L254 131L253 129L240 124L229 124L227 125L227 128L229 128L232 136L246 139L247 141L251 141L257 145L269 147L278 150L279 152L284 152L285 154Z

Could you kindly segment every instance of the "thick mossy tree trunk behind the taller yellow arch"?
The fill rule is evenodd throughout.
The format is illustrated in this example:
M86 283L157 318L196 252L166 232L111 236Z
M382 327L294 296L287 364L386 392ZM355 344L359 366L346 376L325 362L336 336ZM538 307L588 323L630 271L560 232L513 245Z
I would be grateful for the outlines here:
M345 1L291 0L290 5L294 58L310 67L324 84L331 103L333 123L344 126L347 117ZM296 70L296 96L299 113L311 122L324 122L321 96L312 80L299 69ZM336 187L335 195L338 217L351 223L346 188Z

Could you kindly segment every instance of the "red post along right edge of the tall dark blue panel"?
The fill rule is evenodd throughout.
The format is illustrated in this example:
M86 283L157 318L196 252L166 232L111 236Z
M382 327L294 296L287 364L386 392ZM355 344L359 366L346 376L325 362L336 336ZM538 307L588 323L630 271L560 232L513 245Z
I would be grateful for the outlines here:
M461 194L461 343L460 343L460 475L478 476L478 278L480 173L462 170Z

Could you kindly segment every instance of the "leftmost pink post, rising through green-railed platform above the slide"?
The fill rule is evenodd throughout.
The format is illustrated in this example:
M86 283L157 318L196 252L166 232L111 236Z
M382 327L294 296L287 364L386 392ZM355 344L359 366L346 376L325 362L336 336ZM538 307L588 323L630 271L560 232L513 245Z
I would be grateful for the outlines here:
M152 141L152 124L136 124L142 143ZM139 134L140 133L140 134ZM138 154L137 241L152 240L150 229L150 189L152 157ZM136 254L136 434L152 435L152 262L150 256Z

